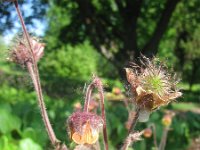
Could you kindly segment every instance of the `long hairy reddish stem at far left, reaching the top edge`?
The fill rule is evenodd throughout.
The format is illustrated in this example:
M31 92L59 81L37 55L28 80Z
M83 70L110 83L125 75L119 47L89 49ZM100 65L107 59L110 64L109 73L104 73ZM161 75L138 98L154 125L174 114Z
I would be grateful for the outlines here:
M28 34L26 26L24 24L24 20L23 20L23 17L21 15L17 0L14 1L14 5L15 5L15 8L16 8L18 17L20 19L22 29L24 31L24 35L26 37L26 40L27 40L27 43L28 43L28 46L29 46L29 50L30 50L30 54L31 54L31 57L32 57L32 63L27 62L26 65L27 65L29 74L31 76L31 79L33 80L34 88L35 88L35 91L36 91L36 94L37 94L39 108L40 108L40 111L41 111L41 116L42 116L45 128L47 130L49 139L50 139L52 145L56 149L67 150L66 145L64 145L64 144L62 146L60 145L60 142L59 142L59 140L57 140L56 135L55 135L53 128L51 126L51 123L49 121L49 117L47 115L46 107L45 107L45 103L44 103L44 99L43 99L42 88L41 88L40 78L39 78L39 71L38 71L38 67L37 67L37 62L36 62L35 57L34 57L32 43L30 41L29 34Z

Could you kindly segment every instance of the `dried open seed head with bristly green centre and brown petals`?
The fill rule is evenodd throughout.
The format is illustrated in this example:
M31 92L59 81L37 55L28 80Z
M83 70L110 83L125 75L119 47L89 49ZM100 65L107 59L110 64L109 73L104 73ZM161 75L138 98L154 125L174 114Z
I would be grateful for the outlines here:
M166 66L158 59L149 60L143 56L141 64L142 66L133 64L130 68L125 68L134 102L141 112L150 114L182 95L176 88L178 81L173 79Z

